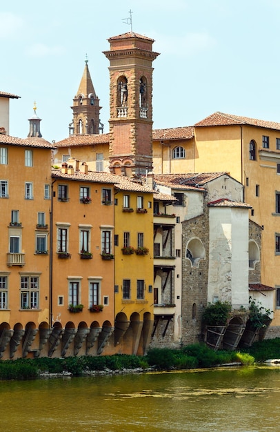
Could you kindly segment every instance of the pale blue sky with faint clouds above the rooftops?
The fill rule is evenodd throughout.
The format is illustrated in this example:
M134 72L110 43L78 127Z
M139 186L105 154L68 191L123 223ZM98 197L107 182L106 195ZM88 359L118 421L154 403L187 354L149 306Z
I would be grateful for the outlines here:
M86 55L108 132L108 38L154 39L153 128L192 126L215 111L280 122L280 0L13 0L0 6L0 91L10 135L42 119L48 141L68 137Z

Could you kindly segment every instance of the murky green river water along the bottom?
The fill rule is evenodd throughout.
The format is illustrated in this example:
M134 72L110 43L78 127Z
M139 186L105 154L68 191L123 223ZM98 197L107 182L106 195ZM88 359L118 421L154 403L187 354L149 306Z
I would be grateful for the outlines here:
M0 430L280 430L280 368L0 382Z

